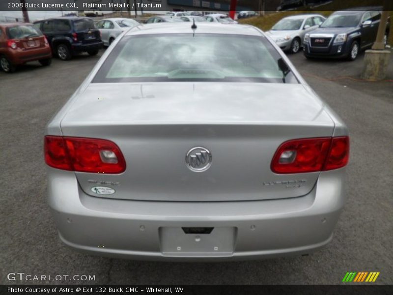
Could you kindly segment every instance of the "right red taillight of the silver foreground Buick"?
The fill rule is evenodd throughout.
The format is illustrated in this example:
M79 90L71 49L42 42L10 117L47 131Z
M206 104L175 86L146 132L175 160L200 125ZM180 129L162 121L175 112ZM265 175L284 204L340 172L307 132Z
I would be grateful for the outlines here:
M348 159L348 136L295 139L277 149L271 169L277 174L326 171L344 167Z

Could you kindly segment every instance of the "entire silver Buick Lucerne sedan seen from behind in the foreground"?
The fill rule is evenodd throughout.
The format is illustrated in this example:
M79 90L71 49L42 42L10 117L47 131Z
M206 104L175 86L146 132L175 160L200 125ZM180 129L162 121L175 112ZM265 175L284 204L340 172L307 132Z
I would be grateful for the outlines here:
M345 124L251 26L124 32L45 134L60 239L86 253L307 254L345 201Z

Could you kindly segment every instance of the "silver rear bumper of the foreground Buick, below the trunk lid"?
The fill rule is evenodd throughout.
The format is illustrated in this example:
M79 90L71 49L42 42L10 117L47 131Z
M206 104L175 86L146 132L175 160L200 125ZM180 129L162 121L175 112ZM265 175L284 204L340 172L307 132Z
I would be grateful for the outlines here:
M84 194L74 173L48 170L49 205L61 240L84 253L128 259L221 261L308 254L331 240L345 201L345 169L321 173L303 197L247 202L96 198ZM233 251L165 253L160 233L166 227L233 227Z

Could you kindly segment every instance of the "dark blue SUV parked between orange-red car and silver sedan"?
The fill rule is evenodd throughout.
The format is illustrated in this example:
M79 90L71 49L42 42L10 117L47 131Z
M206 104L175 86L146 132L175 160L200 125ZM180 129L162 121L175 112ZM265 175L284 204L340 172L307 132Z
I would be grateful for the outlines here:
M34 22L48 39L53 52L61 60L87 52L97 55L102 48L101 34L86 17L60 17Z

